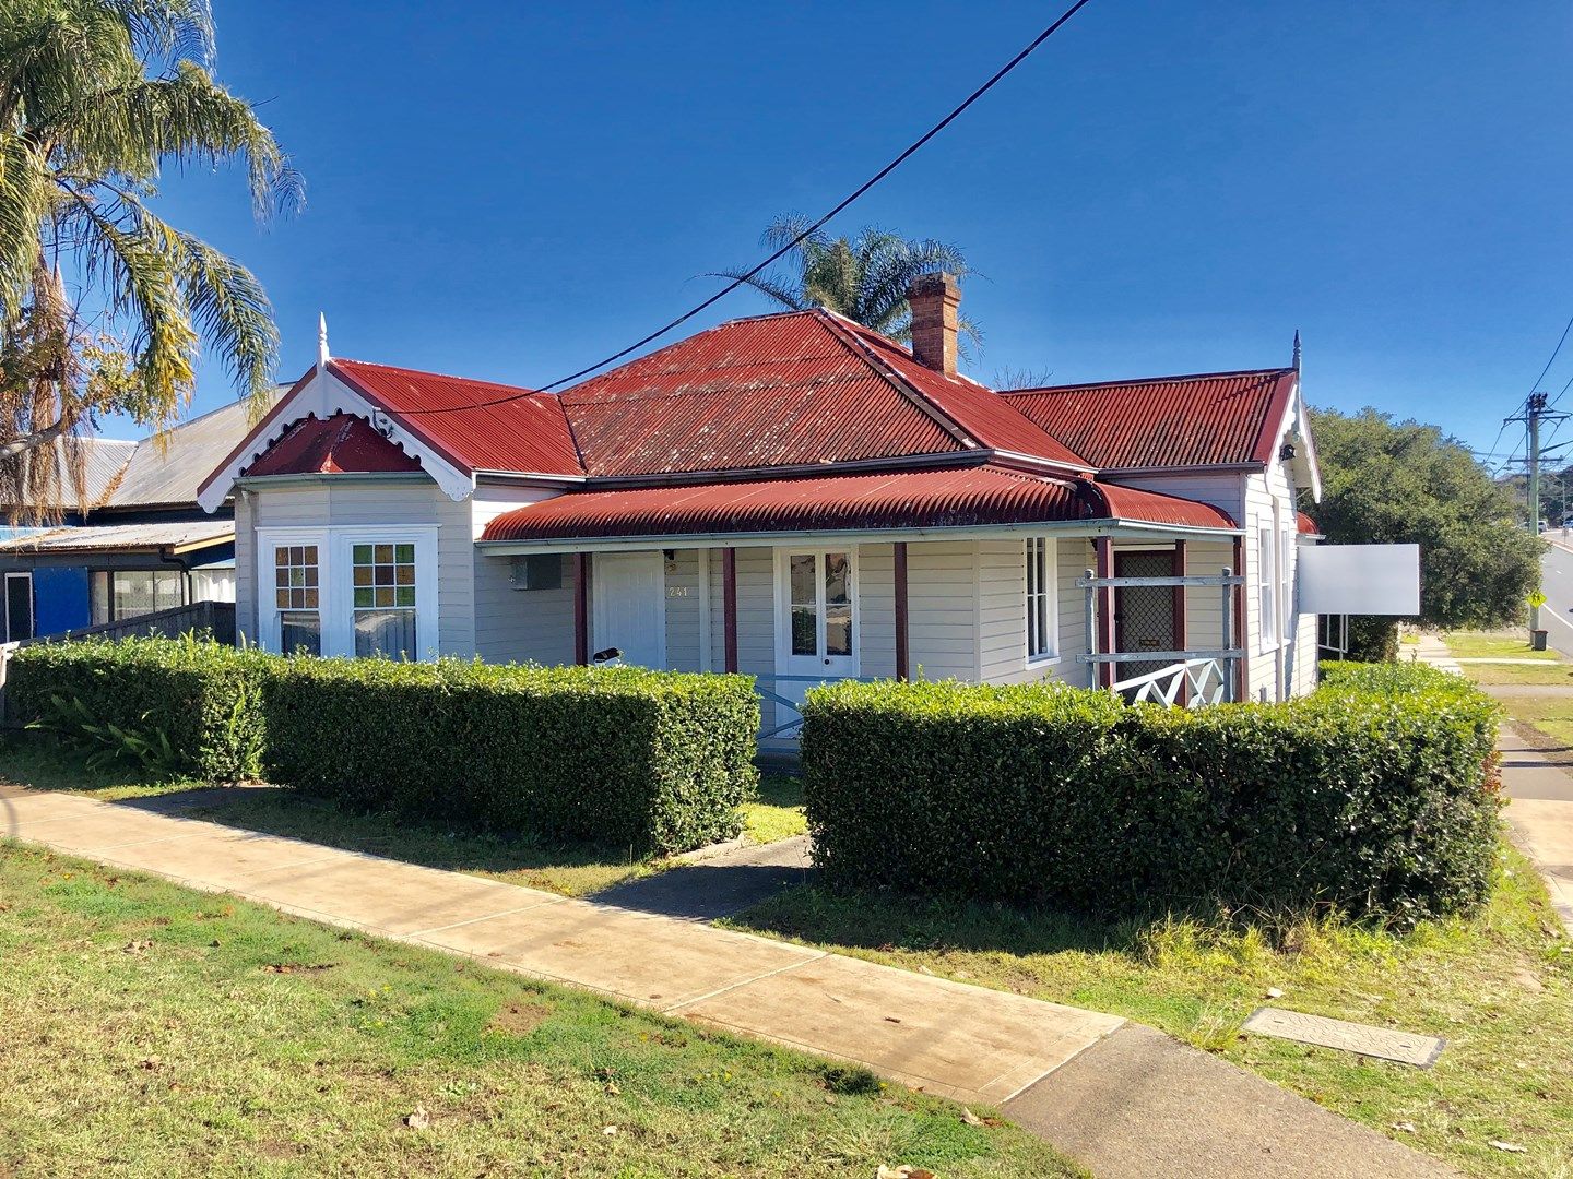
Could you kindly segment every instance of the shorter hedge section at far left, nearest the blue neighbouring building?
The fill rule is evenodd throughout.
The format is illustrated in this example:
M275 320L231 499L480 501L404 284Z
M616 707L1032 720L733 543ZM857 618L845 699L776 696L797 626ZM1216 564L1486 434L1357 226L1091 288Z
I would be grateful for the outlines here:
M33 643L11 657L8 709L145 769L239 781L261 772L263 659L193 637Z

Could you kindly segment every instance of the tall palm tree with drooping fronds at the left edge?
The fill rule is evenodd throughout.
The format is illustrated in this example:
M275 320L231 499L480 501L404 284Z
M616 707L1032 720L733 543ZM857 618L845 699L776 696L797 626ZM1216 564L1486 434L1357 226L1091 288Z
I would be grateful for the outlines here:
M261 406L261 283L148 208L165 168L242 162L258 219L300 181L208 74L208 0L0 0L0 498L58 501L98 413L164 429L203 343ZM69 283L69 288L68 288ZM76 479L80 487L82 479Z

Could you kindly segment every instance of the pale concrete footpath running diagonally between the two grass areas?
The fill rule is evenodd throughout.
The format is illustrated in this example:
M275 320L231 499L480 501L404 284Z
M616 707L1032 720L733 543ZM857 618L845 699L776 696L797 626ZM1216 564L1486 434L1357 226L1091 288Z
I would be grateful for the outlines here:
M659 896L626 896L675 913L669 916L5 784L0 835L854 1061L960 1102L999 1105L1109 1179L1453 1174L1115 1016L702 924L695 918L705 905L684 898L675 880ZM801 850L746 858L749 879L801 871ZM669 876L695 871L711 869ZM711 883L727 910L747 891L728 891L719 877Z

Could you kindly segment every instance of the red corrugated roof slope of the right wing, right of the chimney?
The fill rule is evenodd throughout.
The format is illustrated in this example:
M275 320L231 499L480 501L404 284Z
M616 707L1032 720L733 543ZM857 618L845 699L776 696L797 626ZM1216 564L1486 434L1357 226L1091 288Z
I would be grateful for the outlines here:
M1266 464L1295 391L1291 368L1002 393L1101 470Z

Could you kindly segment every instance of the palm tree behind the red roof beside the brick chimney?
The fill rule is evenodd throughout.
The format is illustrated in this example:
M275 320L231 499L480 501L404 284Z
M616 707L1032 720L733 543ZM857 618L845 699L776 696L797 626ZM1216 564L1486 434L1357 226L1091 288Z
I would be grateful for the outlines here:
M771 252L780 250L810 225L802 214L782 214L764 230L760 244ZM956 278L974 274L958 245L931 237L908 239L875 226L864 226L849 239L815 230L793 245L786 258L794 270L790 278L750 277L747 270L717 270L706 277L741 278L793 311L823 307L892 340L909 341L912 322L906 289L912 280L938 270ZM983 341L977 324L966 318L961 330L974 344Z

